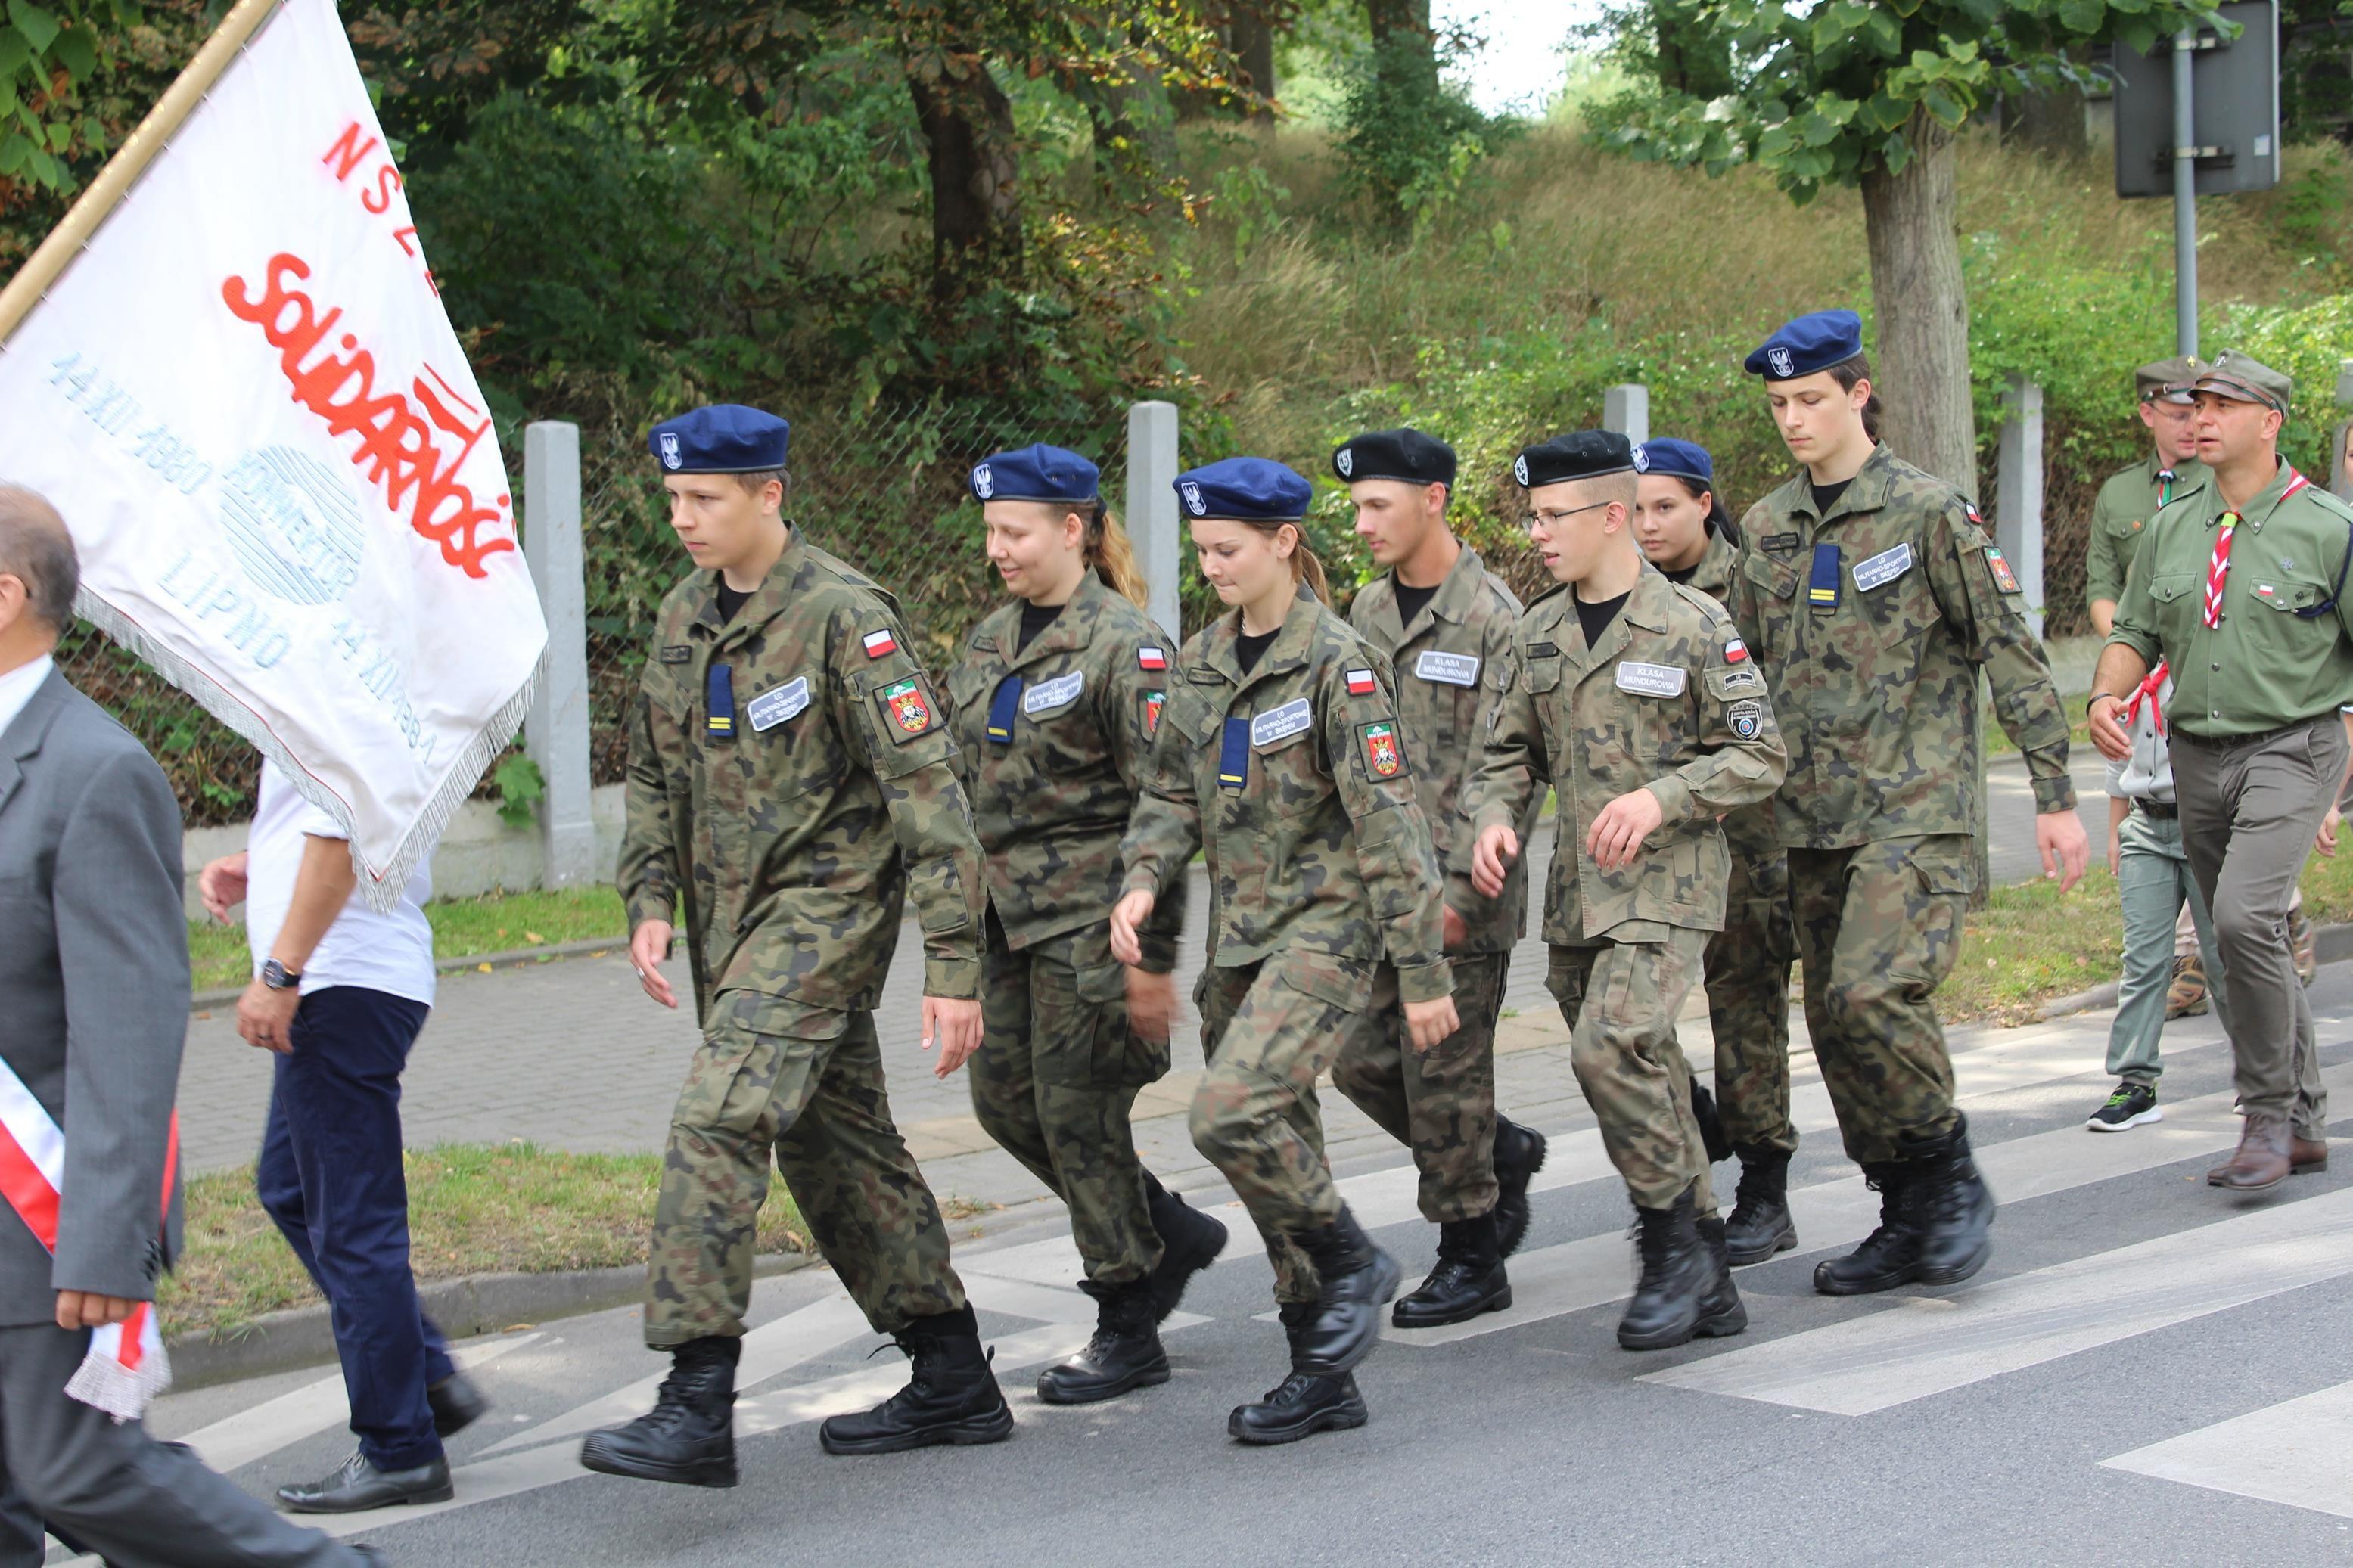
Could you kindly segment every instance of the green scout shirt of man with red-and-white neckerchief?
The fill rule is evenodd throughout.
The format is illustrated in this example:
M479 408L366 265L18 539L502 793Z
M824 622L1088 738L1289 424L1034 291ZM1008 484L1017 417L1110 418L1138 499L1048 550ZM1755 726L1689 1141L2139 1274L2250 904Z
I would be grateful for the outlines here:
M2280 463L2231 541L2221 625L2205 623L2205 578L2228 508L2212 473L2162 508L2115 602L2120 642L2174 672L2165 722L2188 736L2247 736L2353 703L2353 604L2325 616L2353 508ZM2353 588L2353 585L2348 585Z

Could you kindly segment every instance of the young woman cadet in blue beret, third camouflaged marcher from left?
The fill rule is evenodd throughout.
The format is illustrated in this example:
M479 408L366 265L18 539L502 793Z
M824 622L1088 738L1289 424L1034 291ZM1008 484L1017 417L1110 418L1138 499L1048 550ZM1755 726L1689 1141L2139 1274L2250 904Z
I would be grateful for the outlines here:
M1209 865L1209 966L1195 1004L1209 1070L1193 1145L1226 1173L1275 1262L1292 1373L1226 1429L1289 1443L1365 1425L1355 1366L1381 1335L1398 1262L1341 1204L1315 1079L1367 1037L1405 1027L1428 1051L1457 1027L1438 860L1398 733L1388 661L1322 607L1301 538L1308 482L1264 458L1176 477L1193 548L1233 604L1184 649L1153 776L1129 820L1111 950Z

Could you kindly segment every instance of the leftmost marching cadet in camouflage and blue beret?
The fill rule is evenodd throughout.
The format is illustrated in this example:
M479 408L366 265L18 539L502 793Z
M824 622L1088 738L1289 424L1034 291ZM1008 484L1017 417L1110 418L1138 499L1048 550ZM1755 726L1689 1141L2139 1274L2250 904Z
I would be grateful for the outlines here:
M913 1380L835 1415L828 1453L993 1443L988 1373L948 1232L882 1088L873 1006L913 893L925 1046L981 1039L981 849L955 743L896 602L788 524L788 428L720 404L654 425L671 527L701 571L661 602L631 708L619 889L645 992L685 910L704 1044L671 1117L645 1342L673 1354L649 1415L588 1434L581 1465L734 1486L734 1368L774 1154L816 1248Z

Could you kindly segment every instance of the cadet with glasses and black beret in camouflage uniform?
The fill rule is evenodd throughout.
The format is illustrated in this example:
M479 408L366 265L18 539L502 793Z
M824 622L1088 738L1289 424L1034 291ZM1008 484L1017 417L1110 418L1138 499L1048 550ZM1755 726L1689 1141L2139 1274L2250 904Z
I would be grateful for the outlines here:
M1633 538L1633 447L1579 430L1513 463L1529 538L1562 588L1513 632L1511 689L1471 783L1461 886L1494 898L1546 785L1553 875L1544 896L1546 985L1569 1020L1569 1065L1626 1178L1642 1274L1619 1345L1664 1349L1732 1335L1748 1309L1725 1260L1692 1072L1675 1013L1706 933L1725 922L1715 818L1781 783L1765 679L1715 599L1668 583Z

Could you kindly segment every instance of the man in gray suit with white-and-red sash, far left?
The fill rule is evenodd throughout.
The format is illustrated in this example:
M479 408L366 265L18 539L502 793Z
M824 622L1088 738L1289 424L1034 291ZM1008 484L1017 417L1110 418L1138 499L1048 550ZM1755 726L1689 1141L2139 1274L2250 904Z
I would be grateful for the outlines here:
M353 1568L188 1450L66 1394L89 1331L155 1300L179 1251L160 1204L188 926L162 769L49 663L73 538L0 484L0 1063L64 1128L56 1253L0 1204L0 1568L42 1561L33 1516L134 1568Z

